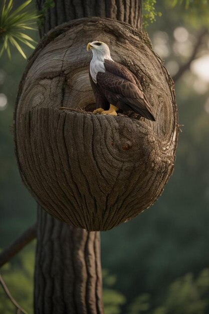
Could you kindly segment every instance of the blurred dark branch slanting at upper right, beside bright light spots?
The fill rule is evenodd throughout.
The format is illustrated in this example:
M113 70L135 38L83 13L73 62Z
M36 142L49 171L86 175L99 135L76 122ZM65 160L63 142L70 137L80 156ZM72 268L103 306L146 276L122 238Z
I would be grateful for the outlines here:
M193 48L193 51L192 51L190 58L188 59L188 61L185 64L180 66L178 72L172 78L175 83L184 74L184 72L189 69L191 62L196 58L196 56L199 52L199 46L201 45L202 39L203 39L204 35L206 35L207 33L208 33L208 30L203 29L197 35L197 41L196 41L196 44Z

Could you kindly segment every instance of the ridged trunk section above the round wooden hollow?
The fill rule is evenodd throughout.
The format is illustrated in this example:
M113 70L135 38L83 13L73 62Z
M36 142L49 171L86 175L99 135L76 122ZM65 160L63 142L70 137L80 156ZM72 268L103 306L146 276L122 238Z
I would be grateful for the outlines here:
M67 21L84 17L110 18L128 23L136 29L142 27L141 0L55 0L55 6L48 10L41 35ZM42 10L45 0L37 0L38 10Z

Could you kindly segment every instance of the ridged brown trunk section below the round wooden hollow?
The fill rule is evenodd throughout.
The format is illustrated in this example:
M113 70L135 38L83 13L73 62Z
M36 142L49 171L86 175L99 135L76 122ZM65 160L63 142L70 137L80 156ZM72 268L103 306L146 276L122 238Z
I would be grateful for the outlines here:
M35 313L102 314L99 232L38 216Z

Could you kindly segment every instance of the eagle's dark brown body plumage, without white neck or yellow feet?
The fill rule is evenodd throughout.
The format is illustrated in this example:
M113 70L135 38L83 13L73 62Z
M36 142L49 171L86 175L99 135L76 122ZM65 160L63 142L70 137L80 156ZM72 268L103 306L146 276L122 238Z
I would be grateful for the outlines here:
M98 45L101 42L94 43ZM98 62L101 65L101 60ZM91 75L91 68L89 71L98 108L108 110L111 104L123 111L133 110L142 117L155 121L151 106L135 75L112 59L102 60L101 69L96 75L94 73L94 79Z

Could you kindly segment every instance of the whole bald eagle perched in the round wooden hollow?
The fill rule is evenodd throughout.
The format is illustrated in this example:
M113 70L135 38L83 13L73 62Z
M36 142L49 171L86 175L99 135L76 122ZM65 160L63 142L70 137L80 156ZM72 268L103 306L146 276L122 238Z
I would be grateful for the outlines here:
M111 58L109 47L105 43L88 43L87 51L89 49L93 53L89 78L97 105L93 113L117 115L118 109L133 110L142 117L155 121L151 106L135 75Z

